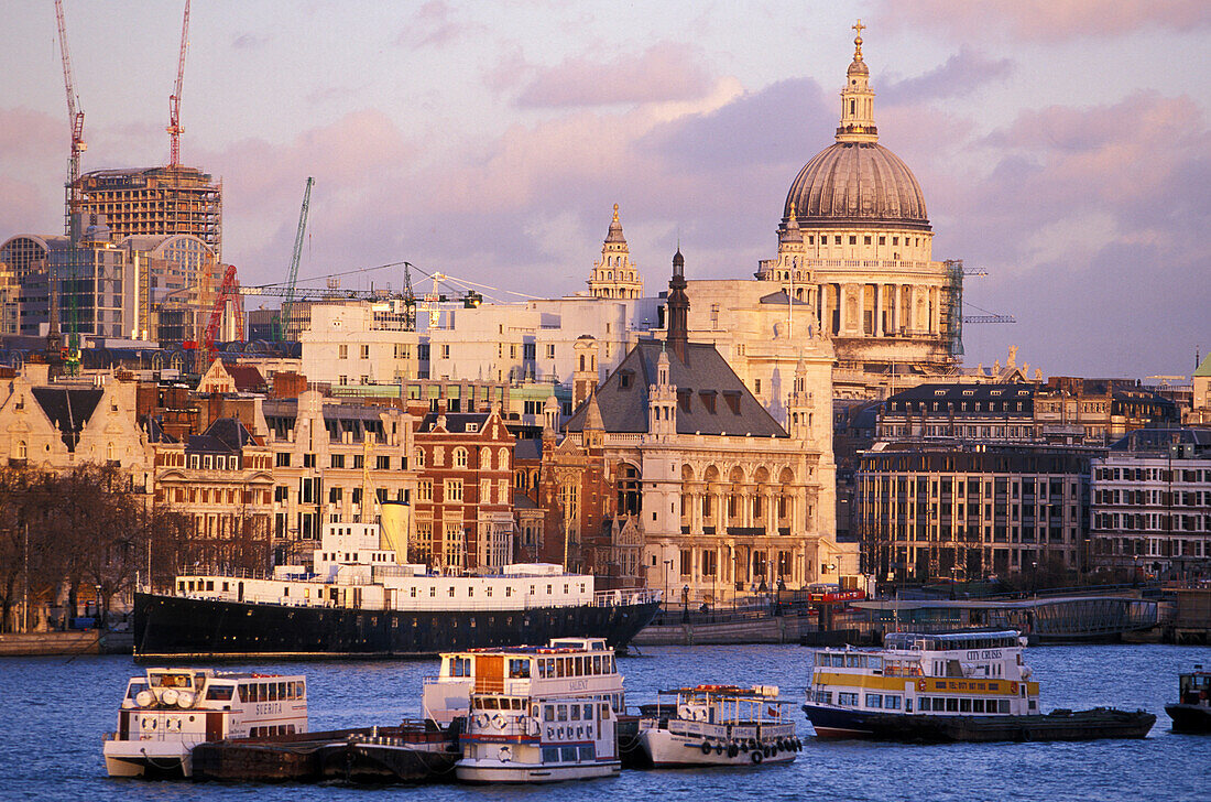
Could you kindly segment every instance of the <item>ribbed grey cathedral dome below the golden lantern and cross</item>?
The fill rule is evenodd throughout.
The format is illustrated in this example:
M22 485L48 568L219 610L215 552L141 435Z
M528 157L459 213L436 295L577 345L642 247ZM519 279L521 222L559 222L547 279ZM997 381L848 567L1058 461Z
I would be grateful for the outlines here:
M792 213L804 228L930 230L917 178L900 156L873 142L838 142L817 153L786 195L784 219Z

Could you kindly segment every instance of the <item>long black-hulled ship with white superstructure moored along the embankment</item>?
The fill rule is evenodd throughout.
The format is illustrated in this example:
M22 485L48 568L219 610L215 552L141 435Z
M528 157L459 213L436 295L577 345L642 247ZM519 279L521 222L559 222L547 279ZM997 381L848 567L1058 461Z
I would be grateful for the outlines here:
M647 626L660 591L597 590L549 563L452 575L401 562L377 523L326 523L310 566L263 577L195 573L172 594L134 595L134 657L159 661L436 655L452 649L603 637Z

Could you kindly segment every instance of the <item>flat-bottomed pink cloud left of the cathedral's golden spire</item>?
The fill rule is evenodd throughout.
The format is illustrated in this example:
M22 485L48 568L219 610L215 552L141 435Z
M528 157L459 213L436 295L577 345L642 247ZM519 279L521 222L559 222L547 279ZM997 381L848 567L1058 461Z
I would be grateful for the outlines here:
M543 70L517 98L521 107L589 107L701 98L711 74L694 47L659 42L638 58L569 58Z

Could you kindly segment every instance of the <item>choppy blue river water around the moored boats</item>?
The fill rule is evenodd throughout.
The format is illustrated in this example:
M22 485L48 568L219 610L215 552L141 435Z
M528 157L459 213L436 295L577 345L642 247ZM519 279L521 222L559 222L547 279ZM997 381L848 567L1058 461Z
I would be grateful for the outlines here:
M633 706L659 688L693 683L777 684L782 699L803 701L810 670L796 646L650 647L619 660ZM624 771L621 777L528 787L374 789L339 785L219 785L111 780L102 737L116 726L127 677L126 657L0 659L0 800L104 802L289 800L368 802L375 798L510 800L1211 800L1211 735L1170 732L1165 704L1177 675L1211 664L1211 648L1172 646L1040 647L1027 663L1041 683L1043 709L1095 705L1143 708L1157 724L1143 740L1085 744L896 745L817 743L788 767L708 771ZM304 672L312 729L389 724L418 717L421 681L435 660L256 664L259 671Z

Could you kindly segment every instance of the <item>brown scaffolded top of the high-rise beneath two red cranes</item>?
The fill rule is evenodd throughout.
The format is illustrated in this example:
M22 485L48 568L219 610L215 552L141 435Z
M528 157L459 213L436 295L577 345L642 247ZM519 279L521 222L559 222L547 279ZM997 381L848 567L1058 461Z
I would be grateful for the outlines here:
M223 254L223 183L196 167L97 170L80 177L80 211L104 214L115 240L193 234Z

